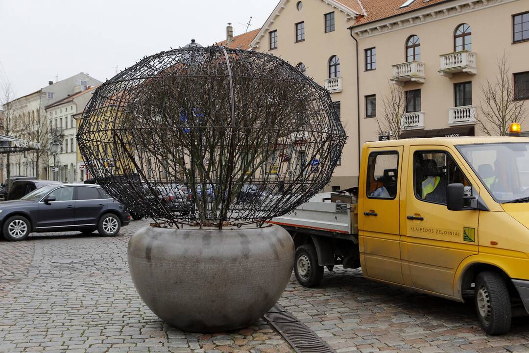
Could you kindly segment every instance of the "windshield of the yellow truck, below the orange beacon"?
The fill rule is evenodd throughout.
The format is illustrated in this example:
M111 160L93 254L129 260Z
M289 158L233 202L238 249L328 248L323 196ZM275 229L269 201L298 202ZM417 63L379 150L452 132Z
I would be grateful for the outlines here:
M529 202L529 143L456 147L497 202Z

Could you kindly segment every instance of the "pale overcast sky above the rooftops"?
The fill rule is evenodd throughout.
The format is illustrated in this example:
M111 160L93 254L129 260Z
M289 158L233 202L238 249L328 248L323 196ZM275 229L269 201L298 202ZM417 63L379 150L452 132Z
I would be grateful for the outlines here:
M0 79L15 97L83 71L105 81L143 56L259 28L278 0L0 0Z

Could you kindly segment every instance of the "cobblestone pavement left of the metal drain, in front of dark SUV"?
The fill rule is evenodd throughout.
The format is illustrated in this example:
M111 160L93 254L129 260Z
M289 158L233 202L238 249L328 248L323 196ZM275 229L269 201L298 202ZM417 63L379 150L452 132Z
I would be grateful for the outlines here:
M0 240L0 352L292 351L263 320L204 335L158 319L126 265L126 245L147 223L133 221L118 237L72 232Z

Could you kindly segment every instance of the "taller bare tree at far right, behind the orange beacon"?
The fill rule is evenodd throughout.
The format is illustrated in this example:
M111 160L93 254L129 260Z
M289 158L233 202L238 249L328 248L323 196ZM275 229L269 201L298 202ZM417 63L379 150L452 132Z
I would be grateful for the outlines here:
M524 101L517 100L513 75L509 73L508 56L498 58L495 79L481 86L480 113L476 123L489 136L507 135L510 123L522 123L525 119Z

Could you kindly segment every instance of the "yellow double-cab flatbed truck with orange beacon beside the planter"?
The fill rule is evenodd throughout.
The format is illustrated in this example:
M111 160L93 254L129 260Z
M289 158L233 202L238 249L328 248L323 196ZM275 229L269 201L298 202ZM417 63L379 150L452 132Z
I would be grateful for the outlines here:
M471 293L489 334L509 331L514 306L529 312L529 139L368 142L361 161L352 194L271 220L294 237L300 284L343 265L455 301Z

